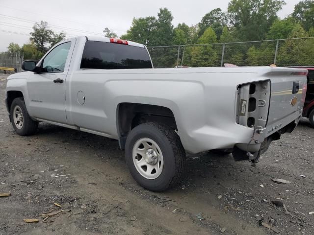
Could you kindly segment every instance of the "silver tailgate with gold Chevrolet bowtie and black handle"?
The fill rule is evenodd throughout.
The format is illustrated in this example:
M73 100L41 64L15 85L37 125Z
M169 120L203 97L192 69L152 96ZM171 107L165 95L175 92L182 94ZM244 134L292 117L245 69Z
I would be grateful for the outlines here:
M306 74L307 70L291 68L273 68L265 74L271 82L267 127L295 112L301 116L300 109L303 108L306 94Z

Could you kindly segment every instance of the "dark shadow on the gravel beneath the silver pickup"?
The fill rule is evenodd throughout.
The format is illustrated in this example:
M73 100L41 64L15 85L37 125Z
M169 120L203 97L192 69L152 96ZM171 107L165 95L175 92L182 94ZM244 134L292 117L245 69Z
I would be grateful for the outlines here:
M97 155L100 156L98 158L100 161L109 161L119 166L119 169L128 171L124 151L120 149L116 140L47 123L40 123L34 138L46 139L50 143L59 144L58 147L63 145L72 151L79 149L79 157L86 158L86 160L89 156L99 153ZM101 165L102 162L99 164ZM235 166L235 164L238 166ZM251 165L248 162L235 163L231 154L213 154L210 152L195 155L187 154L183 177L175 190L191 187L195 189L202 186L202 184L203 186L204 184L216 184L214 182L217 180L220 182L226 179L233 181L237 179L237 174L231 172L239 172L244 170L245 167L251 167ZM131 179L131 175L128 181L138 187L135 181Z

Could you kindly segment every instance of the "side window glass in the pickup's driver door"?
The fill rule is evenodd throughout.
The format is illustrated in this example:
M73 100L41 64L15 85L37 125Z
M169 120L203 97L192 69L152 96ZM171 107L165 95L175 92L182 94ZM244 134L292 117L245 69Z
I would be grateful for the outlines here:
M67 60L71 42L54 47L44 58L42 68L44 72L63 72Z

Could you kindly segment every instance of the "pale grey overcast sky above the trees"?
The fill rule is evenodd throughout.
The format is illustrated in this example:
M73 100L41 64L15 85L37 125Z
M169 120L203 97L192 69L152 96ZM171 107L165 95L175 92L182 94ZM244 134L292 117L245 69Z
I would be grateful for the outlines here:
M1 0L0 51L10 42L27 43L35 22L47 21L55 32L63 30L67 37L103 35L105 27L119 36L131 26L132 18L157 16L160 7L167 7L173 24L197 24L210 10L227 10L230 0ZM299 0L286 0L279 12L281 18L290 14ZM62 28L61 28L62 27ZM88 31L88 32L82 32ZM4 32L6 31L6 32ZM16 34L12 33L15 32Z

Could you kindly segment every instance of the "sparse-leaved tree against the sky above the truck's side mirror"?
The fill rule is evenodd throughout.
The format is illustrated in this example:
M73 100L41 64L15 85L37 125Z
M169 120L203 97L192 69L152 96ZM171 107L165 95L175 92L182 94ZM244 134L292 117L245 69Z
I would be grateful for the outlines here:
M29 39L35 43L36 47L41 52L46 52L48 50L53 31L48 29L47 22L41 21L40 23L34 24L33 32L31 32L30 35L31 37Z

